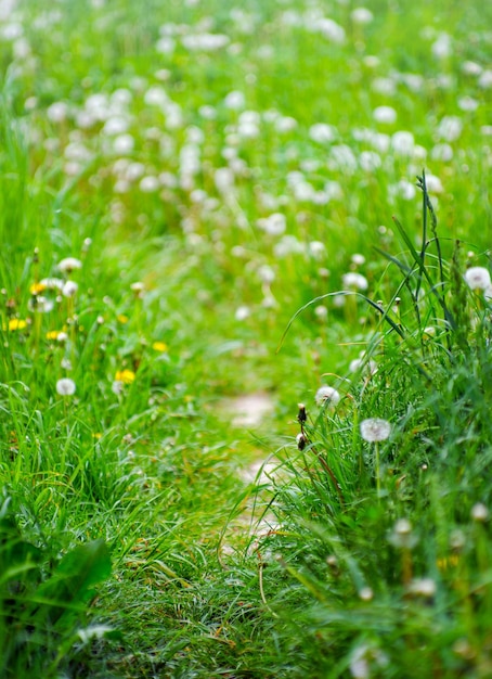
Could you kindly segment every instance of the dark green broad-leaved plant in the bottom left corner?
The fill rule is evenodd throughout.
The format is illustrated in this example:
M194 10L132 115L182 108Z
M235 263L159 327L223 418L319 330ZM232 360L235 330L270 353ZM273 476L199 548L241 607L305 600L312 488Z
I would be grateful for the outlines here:
M0 508L0 644L3 677L57 676L60 666L93 638L112 632L90 624L95 587L111 575L103 540L86 542L63 558L53 543L23 536L11 498Z

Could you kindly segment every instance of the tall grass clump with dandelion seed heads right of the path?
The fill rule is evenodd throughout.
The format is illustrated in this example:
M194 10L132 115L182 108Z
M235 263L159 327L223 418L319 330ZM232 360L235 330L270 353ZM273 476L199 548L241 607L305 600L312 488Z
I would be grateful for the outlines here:
M425 176L418 185L420 252L398 226L409 258L384 253L402 282L377 305L377 369L362 367L349 398L314 420L302 407L299 450L282 453L290 481L269 505L281 527L261 543L277 554L267 600L307 674L480 676L490 666L490 302L467 284L459 244L443 259Z

